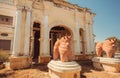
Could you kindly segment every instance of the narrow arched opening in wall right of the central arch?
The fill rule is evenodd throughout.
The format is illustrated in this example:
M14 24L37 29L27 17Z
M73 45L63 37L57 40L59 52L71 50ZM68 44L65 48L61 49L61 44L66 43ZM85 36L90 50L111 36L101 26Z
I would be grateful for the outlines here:
M80 39L81 39L81 54L85 54L85 37L84 37L84 30L82 28L79 29L79 35L80 35Z

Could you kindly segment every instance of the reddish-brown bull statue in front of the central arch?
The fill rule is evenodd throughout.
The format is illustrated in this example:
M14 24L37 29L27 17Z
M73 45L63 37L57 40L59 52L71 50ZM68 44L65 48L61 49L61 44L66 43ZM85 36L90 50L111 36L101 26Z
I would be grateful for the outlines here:
M71 36L63 36L55 42L53 49L53 59L62 62L72 61Z

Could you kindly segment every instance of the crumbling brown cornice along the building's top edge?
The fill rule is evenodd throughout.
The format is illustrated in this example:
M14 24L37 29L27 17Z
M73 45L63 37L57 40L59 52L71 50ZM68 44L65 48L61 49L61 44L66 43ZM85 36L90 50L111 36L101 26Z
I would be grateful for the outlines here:
M36 1L38 1L38 0L30 0L30 1L32 1L32 3L34 3L34 2L36 2ZM58 5L58 6L67 7L67 8L73 9L73 10L76 9L76 10L78 10L78 11L80 11L80 12L88 12L88 13L92 14L93 16L96 15L95 13L91 12L90 9L84 8L84 7L80 7L80 6L78 6L77 4L71 4L70 2L68 2L68 1L66 1L66 0L40 0L40 1L50 1L50 2L53 2L55 5ZM16 6L21 6L20 3L26 4L27 1L14 0L13 2L14 2L13 4L16 4ZM20 4L20 5L19 5L19 4ZM24 4L23 4L23 5L24 5ZM22 6L23 6L23 5L22 5ZM24 6L25 6L25 5L24 5Z

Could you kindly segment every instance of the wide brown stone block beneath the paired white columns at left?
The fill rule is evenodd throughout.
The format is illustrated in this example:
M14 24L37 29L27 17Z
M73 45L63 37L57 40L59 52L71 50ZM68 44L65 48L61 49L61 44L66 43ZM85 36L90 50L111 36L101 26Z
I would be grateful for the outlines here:
M23 69L28 68L32 64L32 58L28 56L10 57L10 68L11 69Z

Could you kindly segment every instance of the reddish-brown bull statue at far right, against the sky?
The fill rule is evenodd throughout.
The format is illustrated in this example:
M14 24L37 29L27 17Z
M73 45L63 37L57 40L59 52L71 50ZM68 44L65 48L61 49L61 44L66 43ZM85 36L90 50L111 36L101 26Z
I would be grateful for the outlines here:
M103 53L106 52L108 58L114 57L116 51L116 39L105 40L103 43L98 42L96 44L96 54L98 57L102 57Z

